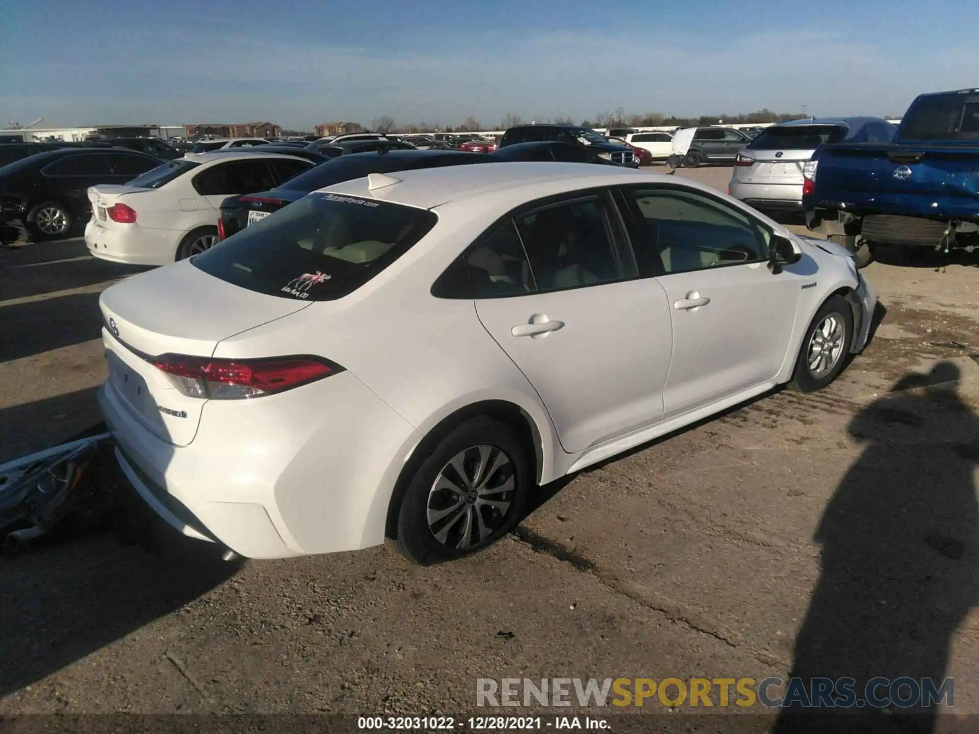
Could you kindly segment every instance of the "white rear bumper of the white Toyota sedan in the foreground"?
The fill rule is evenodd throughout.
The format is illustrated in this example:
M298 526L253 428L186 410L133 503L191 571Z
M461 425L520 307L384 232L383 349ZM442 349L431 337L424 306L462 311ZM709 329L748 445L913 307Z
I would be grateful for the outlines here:
M144 501L185 535L246 558L382 543L397 476L420 438L349 372L256 400L210 400L186 446L147 430L112 382L98 398Z

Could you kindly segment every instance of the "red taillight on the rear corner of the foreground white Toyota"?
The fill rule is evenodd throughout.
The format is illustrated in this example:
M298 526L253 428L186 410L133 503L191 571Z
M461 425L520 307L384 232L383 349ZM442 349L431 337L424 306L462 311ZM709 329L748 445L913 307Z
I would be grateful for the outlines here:
M344 371L338 364L311 356L210 359L163 354L154 364L188 397L225 400L292 390Z

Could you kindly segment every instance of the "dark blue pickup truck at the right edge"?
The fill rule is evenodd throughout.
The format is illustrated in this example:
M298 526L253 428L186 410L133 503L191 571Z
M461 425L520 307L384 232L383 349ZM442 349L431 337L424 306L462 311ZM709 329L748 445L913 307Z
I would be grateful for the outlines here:
M922 94L893 143L820 146L804 166L814 232L858 266L880 248L979 247L979 89Z

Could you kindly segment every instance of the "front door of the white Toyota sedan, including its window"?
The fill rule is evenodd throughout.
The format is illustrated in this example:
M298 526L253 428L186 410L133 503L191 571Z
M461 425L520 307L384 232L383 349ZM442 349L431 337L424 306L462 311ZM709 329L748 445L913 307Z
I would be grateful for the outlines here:
M769 228L680 185L624 191L640 271L656 273L673 320L664 417L769 382L789 346L803 283L768 268Z

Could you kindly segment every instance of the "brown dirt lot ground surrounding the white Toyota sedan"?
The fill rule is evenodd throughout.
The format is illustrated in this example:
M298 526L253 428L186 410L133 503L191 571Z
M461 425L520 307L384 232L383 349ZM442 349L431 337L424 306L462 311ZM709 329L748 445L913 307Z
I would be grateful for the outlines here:
M730 169L682 175L724 190ZM952 676L953 711L979 714L979 256L941 264L863 271L886 313L829 389L776 391L543 487L516 533L456 563L387 546L223 563L159 528L0 560L0 723L499 713L476 710L476 678L790 670ZM97 298L132 272L80 240L0 249L0 462L99 421ZM733 725L676 711L650 727Z

